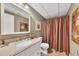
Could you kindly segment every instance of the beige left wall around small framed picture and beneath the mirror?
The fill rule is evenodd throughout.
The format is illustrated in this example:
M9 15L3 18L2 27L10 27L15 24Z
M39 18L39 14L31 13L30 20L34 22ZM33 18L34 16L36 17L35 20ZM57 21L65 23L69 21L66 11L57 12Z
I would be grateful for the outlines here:
M40 31L36 31L35 30L35 21L41 22L44 20L44 18L38 13L36 12L34 9L32 9L31 7L28 10L30 12L30 15L32 16L31 18L31 32L34 33L33 36L35 37L39 37L41 36L41 30ZM8 38L16 38L16 37L23 37L23 36L27 36L28 34L11 34L11 35L0 35L0 39L8 39Z

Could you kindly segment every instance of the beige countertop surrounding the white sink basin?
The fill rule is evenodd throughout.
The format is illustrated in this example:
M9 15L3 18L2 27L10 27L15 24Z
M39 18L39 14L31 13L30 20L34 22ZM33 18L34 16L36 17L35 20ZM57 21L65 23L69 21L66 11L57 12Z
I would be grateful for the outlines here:
M35 43L38 43L39 41L42 41L42 38L34 38L32 39L32 44L25 47L16 47L15 42L10 43L8 46L5 46L3 48L0 48L0 56L14 56L18 53L24 51L25 49L28 49L29 47L33 46Z

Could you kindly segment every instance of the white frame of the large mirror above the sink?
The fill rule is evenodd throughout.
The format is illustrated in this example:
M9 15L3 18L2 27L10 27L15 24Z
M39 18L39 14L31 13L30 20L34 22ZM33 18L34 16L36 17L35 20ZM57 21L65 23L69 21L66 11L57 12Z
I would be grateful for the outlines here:
M13 3L11 3L11 4L13 4ZM26 12L26 10L24 8L22 8L22 6L19 6L17 4L13 4L13 5L17 6L18 8L21 8L22 10L24 10ZM2 7L2 9L1 9L1 11L2 11L1 12L1 20L2 20L2 19L4 19L4 12L5 12L5 10L4 10L4 3L1 3L1 7ZM26 13L28 13L28 12L26 12ZM29 14L29 25L28 26L29 27L28 27L28 31L27 32L14 32L14 33L11 33L11 34L26 34L26 33L30 33L31 32L31 15L30 14ZM11 35L11 34L1 34L0 33L0 35Z

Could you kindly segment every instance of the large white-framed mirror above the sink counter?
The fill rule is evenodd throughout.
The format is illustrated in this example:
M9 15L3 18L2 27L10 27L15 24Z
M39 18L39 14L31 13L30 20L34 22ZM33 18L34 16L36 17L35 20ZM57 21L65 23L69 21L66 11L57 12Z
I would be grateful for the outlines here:
M1 20L1 35L29 33L30 14L19 5L4 3L4 18Z

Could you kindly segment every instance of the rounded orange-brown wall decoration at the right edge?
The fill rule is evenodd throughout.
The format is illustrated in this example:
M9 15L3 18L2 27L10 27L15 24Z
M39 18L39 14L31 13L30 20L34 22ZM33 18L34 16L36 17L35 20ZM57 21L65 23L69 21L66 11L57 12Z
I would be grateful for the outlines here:
M79 44L79 7L72 14L72 40Z

